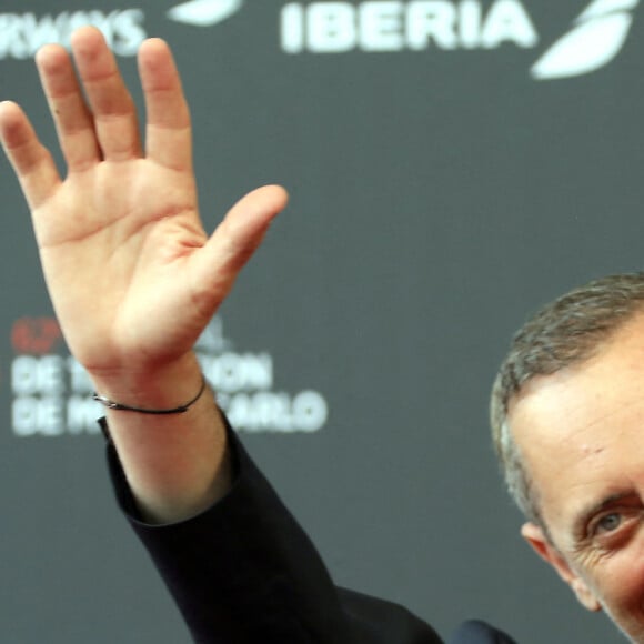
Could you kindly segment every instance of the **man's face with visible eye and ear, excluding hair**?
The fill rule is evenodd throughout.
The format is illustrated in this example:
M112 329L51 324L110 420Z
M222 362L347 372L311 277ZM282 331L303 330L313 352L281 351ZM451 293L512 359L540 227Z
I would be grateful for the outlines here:
M644 643L644 315L581 366L534 379L509 423L552 543L533 524L523 535Z

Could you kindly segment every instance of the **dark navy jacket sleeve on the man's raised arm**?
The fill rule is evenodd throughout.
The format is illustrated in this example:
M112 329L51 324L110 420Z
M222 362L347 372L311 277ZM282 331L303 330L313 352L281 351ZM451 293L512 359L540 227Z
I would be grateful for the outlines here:
M195 642L209 644L435 644L395 604L334 586L320 555L229 427L237 476L205 512L169 525L139 519L115 450L117 499Z

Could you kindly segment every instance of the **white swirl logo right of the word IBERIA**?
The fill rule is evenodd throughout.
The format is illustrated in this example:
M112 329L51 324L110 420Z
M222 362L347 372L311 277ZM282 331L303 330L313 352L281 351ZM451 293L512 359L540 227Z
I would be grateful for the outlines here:
M622 51L640 0L595 0L532 67L537 80L596 71Z

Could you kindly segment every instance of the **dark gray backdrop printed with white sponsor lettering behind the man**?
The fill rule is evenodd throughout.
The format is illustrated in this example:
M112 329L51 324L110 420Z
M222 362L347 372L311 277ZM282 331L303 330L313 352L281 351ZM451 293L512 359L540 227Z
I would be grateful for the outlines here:
M486 410L530 311L642 266L637 1L576 22L590 0L175 4L0 2L0 98L54 147L34 49L100 21L140 104L132 52L161 36L207 227L290 189L200 351L335 580L443 635L621 641L521 541ZM0 640L188 642L113 503L4 159L0 187Z

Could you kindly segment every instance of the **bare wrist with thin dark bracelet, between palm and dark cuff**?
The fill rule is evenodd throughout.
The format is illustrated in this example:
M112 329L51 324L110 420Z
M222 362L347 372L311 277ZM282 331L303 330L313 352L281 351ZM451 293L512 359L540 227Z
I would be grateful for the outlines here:
M190 353L163 369L95 374L98 392L144 409L172 409L194 398L201 371ZM209 388L184 413L107 411L110 434L142 517L172 523L194 515L230 489L225 429Z

